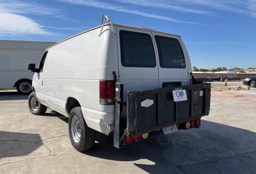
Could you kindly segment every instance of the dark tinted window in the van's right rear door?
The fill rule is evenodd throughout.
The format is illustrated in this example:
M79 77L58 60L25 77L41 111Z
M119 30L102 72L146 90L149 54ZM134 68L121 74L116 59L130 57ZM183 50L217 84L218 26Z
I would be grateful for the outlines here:
M174 38L155 36L162 68L185 68L186 61L180 42Z

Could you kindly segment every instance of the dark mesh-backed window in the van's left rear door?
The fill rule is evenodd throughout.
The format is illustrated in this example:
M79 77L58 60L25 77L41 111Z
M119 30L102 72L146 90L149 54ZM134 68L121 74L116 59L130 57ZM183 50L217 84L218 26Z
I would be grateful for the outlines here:
M156 67L154 46L149 34L121 30L120 48L124 67Z

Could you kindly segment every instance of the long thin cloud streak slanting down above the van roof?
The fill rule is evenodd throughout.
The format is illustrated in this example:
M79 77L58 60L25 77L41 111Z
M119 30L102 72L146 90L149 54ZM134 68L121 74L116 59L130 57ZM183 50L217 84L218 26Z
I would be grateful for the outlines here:
M186 24L199 24L197 22L177 20L177 19L170 18L167 16L160 16L160 15L156 15L156 14L140 12L138 10L130 10L130 9L124 8L123 6L115 6L115 5L112 5L109 3L93 1L93 0L58 0L58 1L69 3L69 4L84 5L84 6L93 7L93 8L102 8L102 9L107 9L107 10L114 10L117 12L136 14L136 15L145 16L148 18L161 19L161 20L166 20L166 21L170 21L170 22L180 22L180 23L186 23Z

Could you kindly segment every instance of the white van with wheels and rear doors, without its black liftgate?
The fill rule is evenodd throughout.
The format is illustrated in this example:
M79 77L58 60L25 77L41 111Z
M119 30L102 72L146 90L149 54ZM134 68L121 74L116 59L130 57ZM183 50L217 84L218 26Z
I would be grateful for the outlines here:
M47 48L28 105L35 115L50 108L69 117L70 140L90 149L95 131L114 129L115 75L126 91L191 85L190 57L182 39L134 26L105 24ZM124 101L126 101L124 95Z

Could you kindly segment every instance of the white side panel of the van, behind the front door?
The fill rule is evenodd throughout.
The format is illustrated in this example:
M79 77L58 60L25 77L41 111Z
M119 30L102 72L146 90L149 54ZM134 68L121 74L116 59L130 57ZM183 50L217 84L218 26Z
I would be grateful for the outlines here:
M114 124L114 105L100 105L100 79L118 72L116 35L109 26L86 32L51 47L44 66L45 105L68 116L66 101L81 105L88 127L105 133Z

